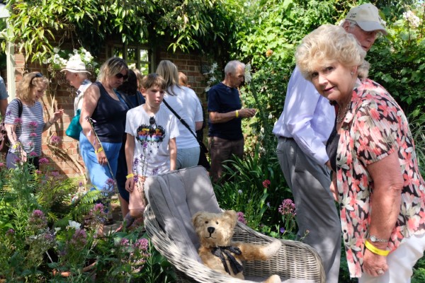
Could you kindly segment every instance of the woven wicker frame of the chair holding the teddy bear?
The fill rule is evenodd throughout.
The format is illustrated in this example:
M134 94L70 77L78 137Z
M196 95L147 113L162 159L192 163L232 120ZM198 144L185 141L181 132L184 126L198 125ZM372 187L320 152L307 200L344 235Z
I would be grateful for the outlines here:
M152 184L152 180L150 183ZM282 248L280 248L278 255L273 256L271 260L243 262L246 278L243 281L215 272L183 253L181 245L176 244L176 241L167 235L162 225L159 224L150 204L145 209L144 218L147 234L159 253L164 255L173 265L178 279L177 282L246 283L258 282L261 277L266 278L274 274L279 275L283 282L325 282L324 269L319 255L316 250L305 243L280 240ZM239 222L234 232L234 241L249 243L276 241L275 238L264 236ZM288 281L285 281L285 279L288 279Z

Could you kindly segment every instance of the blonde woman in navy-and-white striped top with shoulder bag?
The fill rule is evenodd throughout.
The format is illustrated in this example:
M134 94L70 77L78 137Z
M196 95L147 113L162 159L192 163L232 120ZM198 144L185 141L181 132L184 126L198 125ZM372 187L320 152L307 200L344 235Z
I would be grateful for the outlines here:
M15 168L16 162L28 161L38 169L41 156L41 134L62 117L64 110L56 110L44 121L40 98L45 94L48 81L41 73L25 74L16 89L16 99L6 109L4 120L10 142L6 163Z

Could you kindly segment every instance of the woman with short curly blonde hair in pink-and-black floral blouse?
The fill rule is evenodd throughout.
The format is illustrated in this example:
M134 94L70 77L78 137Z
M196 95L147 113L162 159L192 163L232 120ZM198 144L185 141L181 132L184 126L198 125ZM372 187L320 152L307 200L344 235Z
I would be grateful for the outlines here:
M366 79L365 50L335 25L307 35L295 53L302 75L336 103L327 154L351 277L410 282L425 250L425 183L404 112Z

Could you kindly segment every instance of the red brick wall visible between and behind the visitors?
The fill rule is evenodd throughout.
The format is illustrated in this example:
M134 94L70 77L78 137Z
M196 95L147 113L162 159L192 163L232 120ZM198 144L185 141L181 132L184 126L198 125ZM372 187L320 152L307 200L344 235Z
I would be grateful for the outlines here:
M72 50L72 47L70 46L61 46L61 48ZM98 62L103 63L106 59L107 55L105 50L105 52L100 55ZM201 99L203 108L206 109L204 91L205 78L200 71L202 65L206 64L205 60L196 54L183 54L181 52L171 54L169 52L159 50L156 56L156 64L162 59L169 59L171 62L174 62L179 71L182 71L186 74L186 76L188 76L188 83ZM74 88L69 86L68 83L65 83L64 78L58 78L60 74L56 73L55 77L52 77L52 74L47 71L46 65L28 62L26 65L23 54L18 54L18 50L16 50L15 62L16 83L21 80L24 71L40 71L42 74L45 74L48 79L50 79L49 88L47 89L45 96L42 98L42 105L45 110L45 121L51 117L52 109L64 109L62 119L58 120L55 125L42 134L42 156L48 157L51 161L51 163L46 166L49 166L49 168L59 172L61 175L78 177L81 178L82 181L86 181L84 178L84 162L78 154L78 142L67 137L65 134L65 131L69 126L69 122L74 116ZM91 81L95 81L96 77L91 76L90 79ZM50 138L52 135L60 137L62 142L57 145L51 144Z

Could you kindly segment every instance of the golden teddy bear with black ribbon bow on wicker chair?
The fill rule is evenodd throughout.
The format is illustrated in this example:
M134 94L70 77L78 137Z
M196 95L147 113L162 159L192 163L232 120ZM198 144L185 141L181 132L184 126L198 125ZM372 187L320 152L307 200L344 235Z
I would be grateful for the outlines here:
M267 245L232 241L237 214L234 210L222 213L198 212L192 217L193 227L200 241L198 254L204 265L212 270L244 279L242 260L268 260L282 246L280 241ZM280 283L278 275L264 283Z

